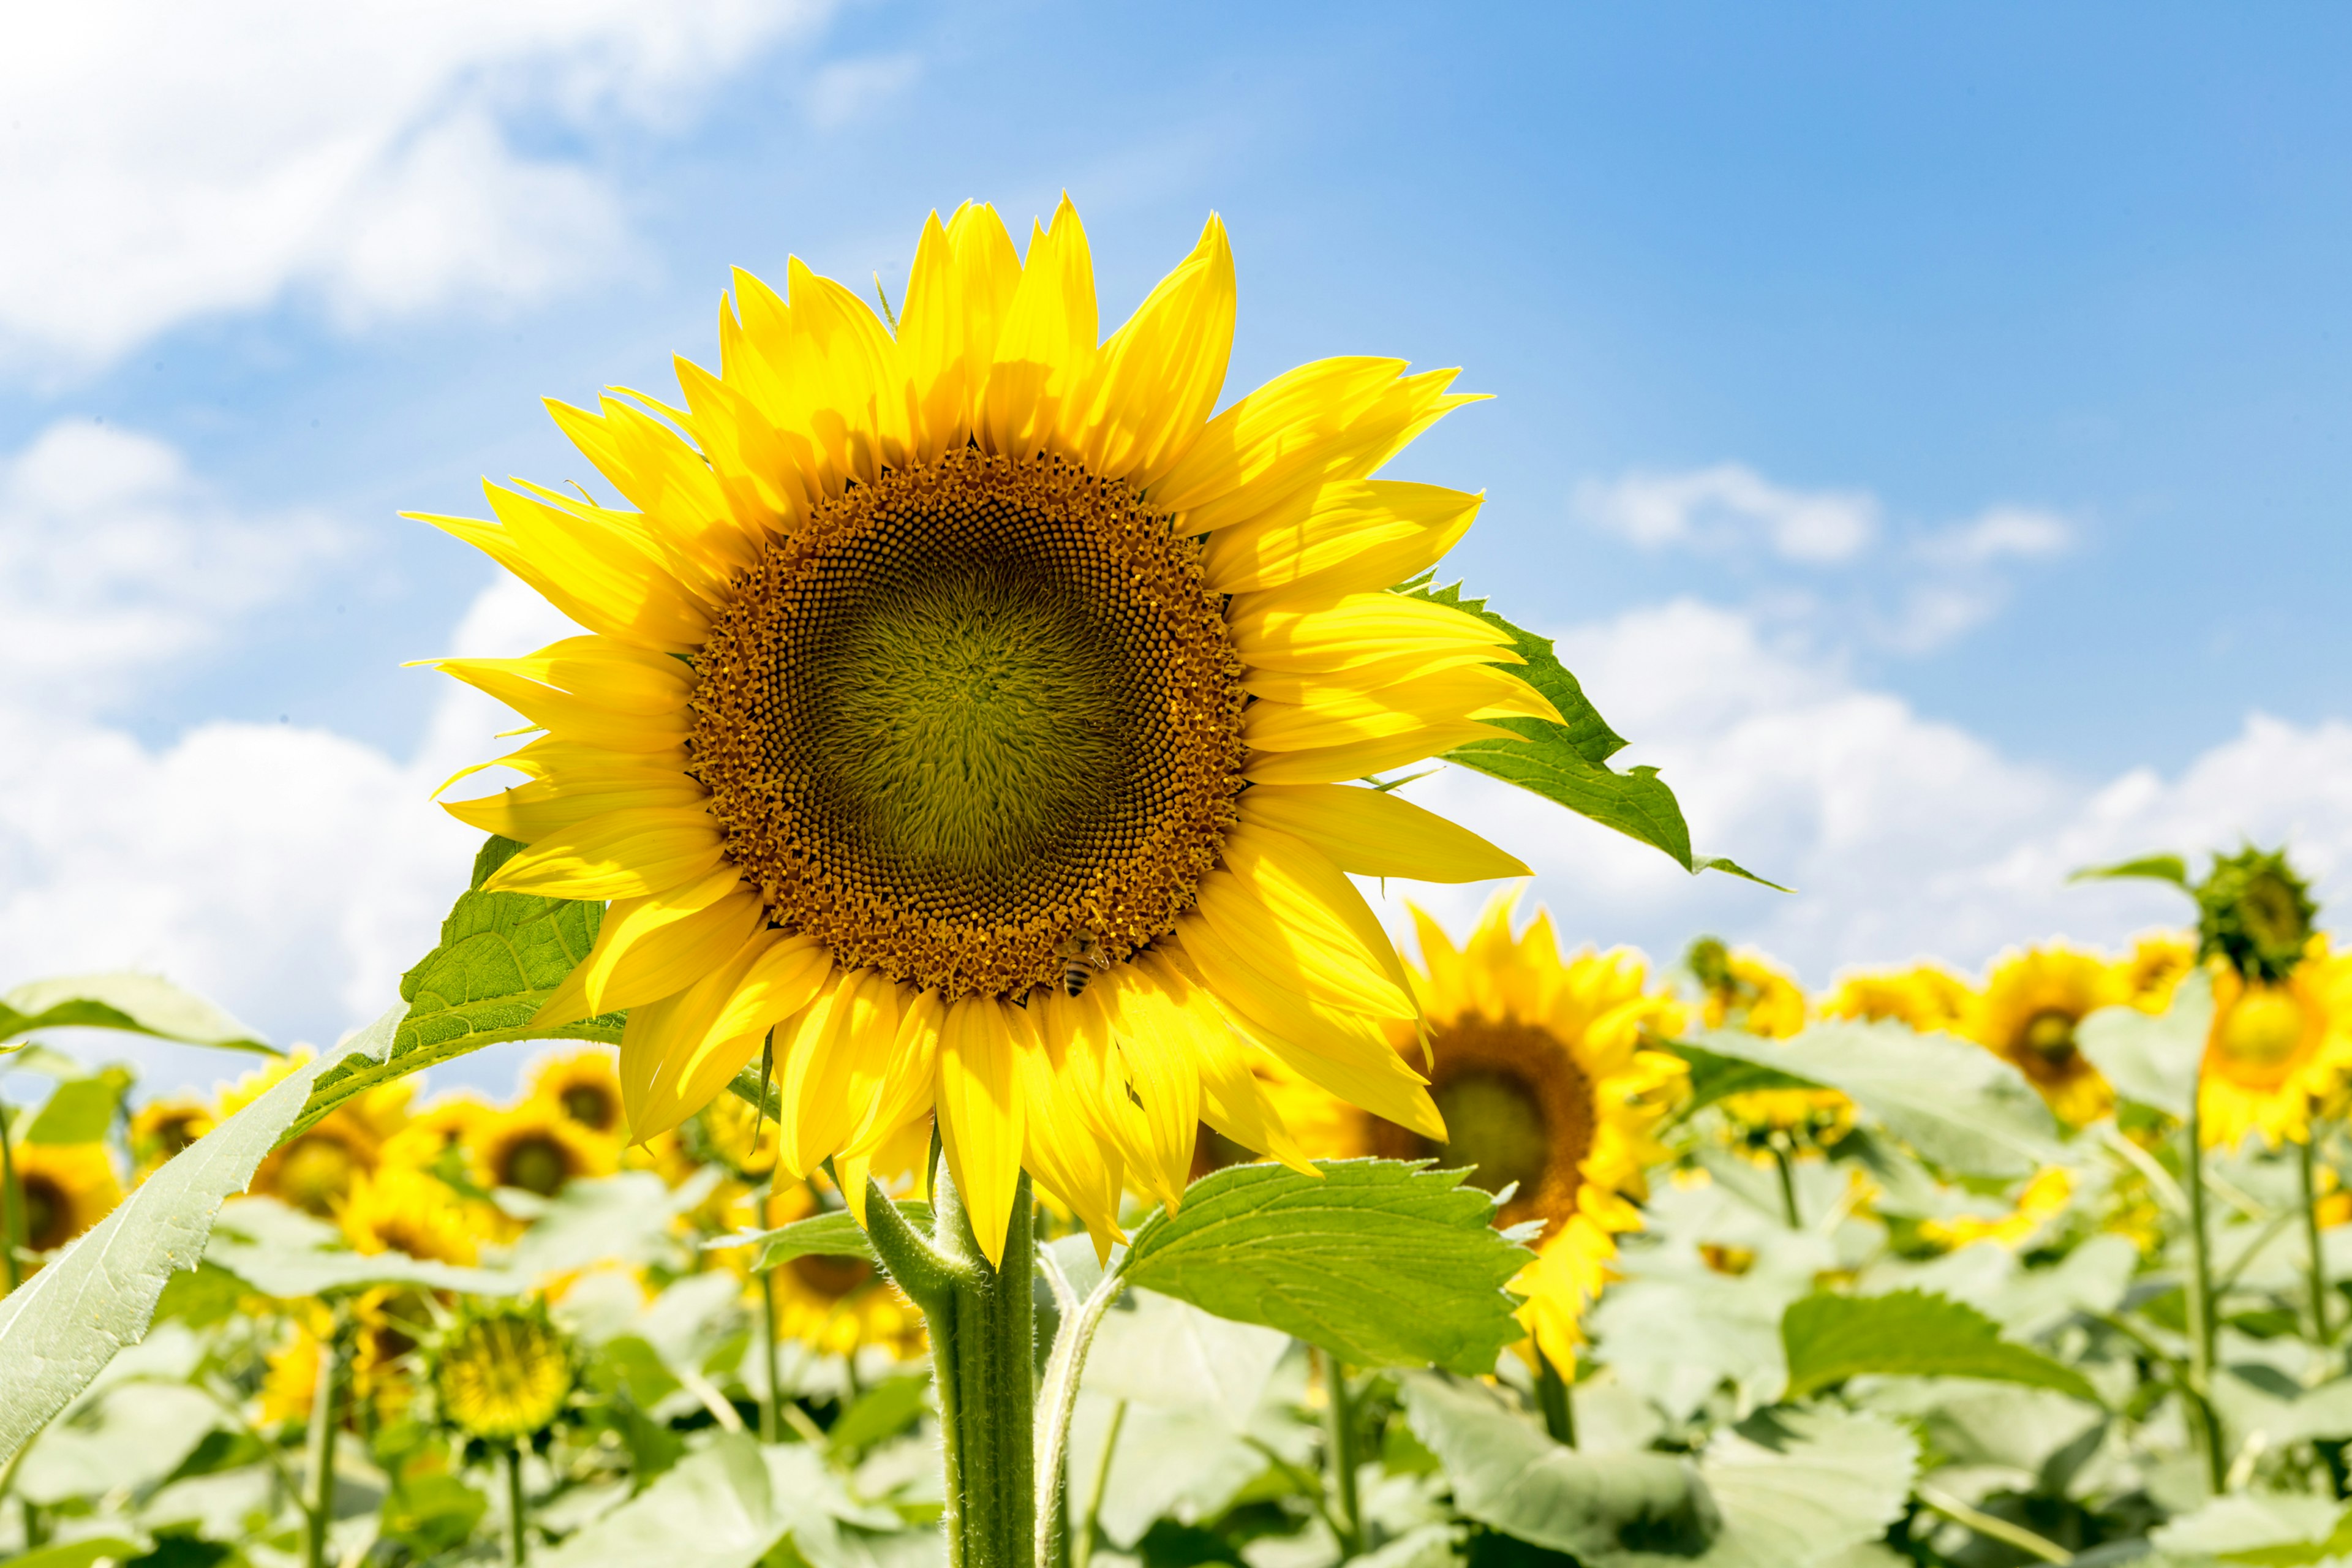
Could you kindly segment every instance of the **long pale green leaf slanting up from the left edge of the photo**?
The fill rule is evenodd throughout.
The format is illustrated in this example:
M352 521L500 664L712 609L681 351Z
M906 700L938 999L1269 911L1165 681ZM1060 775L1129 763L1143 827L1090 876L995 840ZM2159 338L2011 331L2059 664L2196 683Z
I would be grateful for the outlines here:
M136 1192L0 1300L0 1462L66 1408L125 1345L139 1342L174 1269L193 1269L221 1199L245 1192L313 1081L390 1039L386 1013L181 1150Z

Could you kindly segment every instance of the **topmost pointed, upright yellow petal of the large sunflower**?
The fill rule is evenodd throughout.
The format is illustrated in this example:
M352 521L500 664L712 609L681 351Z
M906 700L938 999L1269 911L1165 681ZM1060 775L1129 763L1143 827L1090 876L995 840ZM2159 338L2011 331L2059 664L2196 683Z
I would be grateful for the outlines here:
M990 451L1025 458L1042 451L1061 407L1094 376L1094 259L1077 209L1063 195L1054 228L1030 235L981 395L981 433Z

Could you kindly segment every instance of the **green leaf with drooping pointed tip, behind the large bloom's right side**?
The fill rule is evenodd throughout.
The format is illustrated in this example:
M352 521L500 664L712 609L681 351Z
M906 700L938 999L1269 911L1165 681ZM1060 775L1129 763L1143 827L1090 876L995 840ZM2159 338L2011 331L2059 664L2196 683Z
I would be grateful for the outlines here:
M1764 882L1764 877L1731 860L1691 856L1691 830L1682 820L1675 792L1658 778L1658 769L1637 766L1618 773L1609 766L1609 759L1625 750L1625 738L1609 729L1609 722L1592 708L1585 689L1559 663L1550 637L1536 637L1512 625L1486 609L1486 599L1461 597L1461 583L1451 588L1414 588L1406 597L1449 604L1477 616L1486 625L1510 632L1512 651L1526 663L1505 668L1541 691L1564 719L1564 724L1552 724L1550 719L1486 719L1524 738L1470 741L1446 752L1444 762L1456 762L1489 778L1534 790L1543 799L1588 816L1602 827L1616 827L1625 837L1663 849L1672 856L1675 865L1693 877L1712 870L1759 882L1780 893L1788 891L1778 882Z

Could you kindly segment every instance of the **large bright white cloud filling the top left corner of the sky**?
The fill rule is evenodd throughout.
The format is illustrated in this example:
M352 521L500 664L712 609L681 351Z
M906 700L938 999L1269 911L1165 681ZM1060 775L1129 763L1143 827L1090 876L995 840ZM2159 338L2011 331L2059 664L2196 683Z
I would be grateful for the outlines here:
M287 292L346 322L527 301L626 263L616 190L553 120L677 125L830 0L355 0L12 12L0 357L103 364Z

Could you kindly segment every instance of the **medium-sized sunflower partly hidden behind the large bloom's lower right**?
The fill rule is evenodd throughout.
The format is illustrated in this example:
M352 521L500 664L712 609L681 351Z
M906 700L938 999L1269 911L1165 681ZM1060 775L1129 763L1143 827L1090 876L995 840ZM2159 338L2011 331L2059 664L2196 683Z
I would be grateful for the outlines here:
M1616 1258L1613 1237L1642 1227L1644 1168L1665 1157L1653 1128L1684 1065L1642 1046L1649 1030L1677 1027L1679 1009L1646 990L1642 954L1618 947L1562 961L1548 914L1538 910L1519 938L1510 917L1512 898L1496 898L1456 950L1414 912L1428 969L1430 1095L1449 1138L1357 1114L1357 1140L1388 1159L1470 1166L1468 1180L1489 1192L1517 1182L1496 1222L1543 1222L1536 1260L1512 1281L1526 1295L1519 1321L1555 1366L1569 1366L1576 1324ZM1421 1053L1418 1041L1399 1048Z

